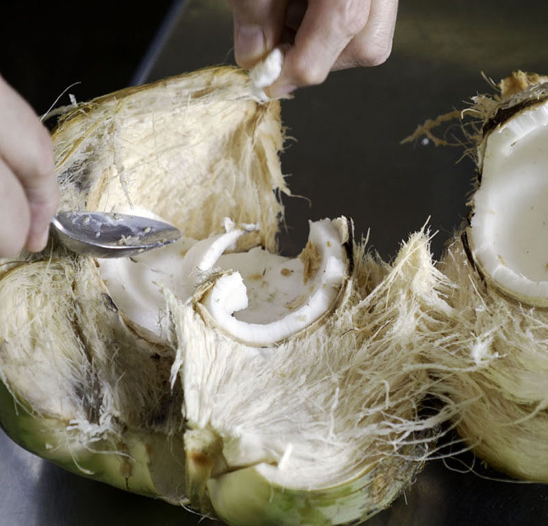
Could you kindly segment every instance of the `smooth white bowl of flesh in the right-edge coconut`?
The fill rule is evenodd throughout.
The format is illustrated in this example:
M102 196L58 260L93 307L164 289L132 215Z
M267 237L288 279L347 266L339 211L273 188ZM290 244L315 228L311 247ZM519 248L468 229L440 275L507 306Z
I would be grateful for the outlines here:
M468 238L482 273L504 292L548 305L548 103L486 138Z

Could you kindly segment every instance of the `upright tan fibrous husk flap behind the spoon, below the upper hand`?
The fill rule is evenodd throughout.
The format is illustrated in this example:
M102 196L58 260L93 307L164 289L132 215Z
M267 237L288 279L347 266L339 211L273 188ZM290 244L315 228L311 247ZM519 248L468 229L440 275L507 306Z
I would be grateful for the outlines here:
M202 239L223 218L260 223L275 250L288 193L279 103L260 104L245 73L210 68L127 88L64 114L53 132L60 210L154 210Z

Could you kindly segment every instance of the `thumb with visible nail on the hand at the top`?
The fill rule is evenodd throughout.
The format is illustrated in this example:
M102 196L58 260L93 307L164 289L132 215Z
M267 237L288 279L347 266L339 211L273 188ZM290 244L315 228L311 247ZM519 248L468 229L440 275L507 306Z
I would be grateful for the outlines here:
M284 29L288 0L229 0L234 16L234 55L249 69L273 49Z

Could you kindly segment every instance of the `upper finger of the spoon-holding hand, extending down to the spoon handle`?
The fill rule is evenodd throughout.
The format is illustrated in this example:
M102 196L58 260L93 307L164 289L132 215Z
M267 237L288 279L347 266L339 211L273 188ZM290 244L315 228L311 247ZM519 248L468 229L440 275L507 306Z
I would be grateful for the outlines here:
M47 242L49 221L59 201L59 187L53 164L53 146L47 129L40 123L32 108L0 77L0 158L3 160L4 184L15 195L12 178L16 177L26 200L26 214L30 216L23 233L25 248L42 250ZM11 174L7 175L7 171ZM11 181L10 183L5 181ZM0 194L0 208L23 214ZM5 215L5 212L3 212ZM17 230L21 234L20 230Z

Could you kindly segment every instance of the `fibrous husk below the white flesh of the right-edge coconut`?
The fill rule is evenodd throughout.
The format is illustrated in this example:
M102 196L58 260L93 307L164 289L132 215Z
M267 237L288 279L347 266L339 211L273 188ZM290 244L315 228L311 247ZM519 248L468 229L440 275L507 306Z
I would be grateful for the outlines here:
M492 466L547 482L548 312L488 286L460 238L440 270L456 287L447 345L432 362L441 366L438 386L460 406L460 435Z

